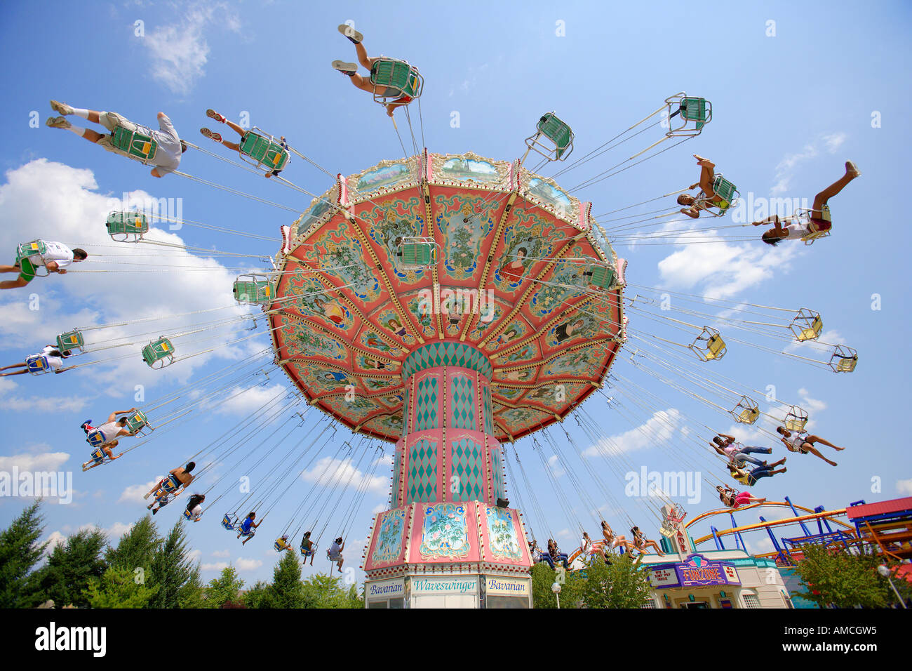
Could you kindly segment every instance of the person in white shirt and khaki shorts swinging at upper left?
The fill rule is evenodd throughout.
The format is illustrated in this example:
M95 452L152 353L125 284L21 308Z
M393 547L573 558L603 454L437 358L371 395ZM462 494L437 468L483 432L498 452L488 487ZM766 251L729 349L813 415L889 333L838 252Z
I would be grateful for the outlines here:
M181 138L178 137L177 131L174 130L171 119L169 119L168 115L164 112L159 112L159 128L161 130L155 131L148 126L140 126L138 123L133 123L117 112L83 110L67 105L66 102L58 102L57 100L51 100L51 108L63 116L48 117L48 126L51 128L62 128L67 131L73 131L79 137L88 140L88 142L100 144L109 152L119 153L121 156L128 156L141 163L151 163L155 166L150 173L153 177L164 177L166 174L173 173L177 170L177 167L181 164L181 154L187 151L187 145L184 142L181 142ZM88 128L74 126L65 118L69 115L75 115L82 119L92 121L93 123L101 124L108 129L109 134L102 135L101 133L92 131ZM148 135L158 145L155 153L150 156L148 160L143 160L119 150L111 142L114 137L114 131L118 128L123 128L128 131L139 131L143 135Z

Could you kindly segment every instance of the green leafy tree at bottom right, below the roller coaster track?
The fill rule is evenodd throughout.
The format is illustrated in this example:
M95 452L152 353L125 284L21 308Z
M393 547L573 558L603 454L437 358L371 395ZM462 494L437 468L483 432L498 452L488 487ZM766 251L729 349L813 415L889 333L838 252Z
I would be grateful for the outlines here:
M795 571L808 587L799 596L821 607L884 608L896 601L889 582L877 573L877 566L885 563L876 554L852 554L835 547L804 545L802 561ZM904 581L894 580L897 587Z

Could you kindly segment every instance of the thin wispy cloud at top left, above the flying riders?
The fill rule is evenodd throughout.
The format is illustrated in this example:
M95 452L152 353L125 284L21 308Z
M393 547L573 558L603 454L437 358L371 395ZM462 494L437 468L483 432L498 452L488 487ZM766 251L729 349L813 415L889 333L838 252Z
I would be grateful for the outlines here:
M151 29L141 44L149 50L152 78L174 93L189 93L196 80L205 74L210 54L205 33L211 26L239 32L241 22L223 4L198 3L178 23Z

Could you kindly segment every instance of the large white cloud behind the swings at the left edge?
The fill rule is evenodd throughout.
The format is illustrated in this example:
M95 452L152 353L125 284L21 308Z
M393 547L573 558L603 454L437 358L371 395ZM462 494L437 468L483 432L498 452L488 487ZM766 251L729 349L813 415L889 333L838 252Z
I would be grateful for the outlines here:
M73 142L77 140L74 138ZM83 144L86 144L86 152L98 152L99 158L105 153L86 142ZM126 159L113 158L124 162L125 170L138 168ZM107 156L101 160L106 159ZM41 283L40 310L23 311L20 307L23 302L21 295L12 295L16 293L15 289L0 292L4 294L0 296L0 341L3 342L4 348L21 348L16 358L24 358L42 344L52 342L57 336L60 324L88 327L99 323L130 321L221 306L224 306L224 309L208 313L203 319L227 320L250 313L250 309L241 308L233 303L231 286L235 278L234 273L213 258L193 256L175 247L145 244L117 246L116 252L109 252L114 243L107 235L104 221L109 211L122 209L124 205L120 203L120 199L112 201L97 193L98 184L90 170L72 168L62 163L49 162L47 159L37 159L15 170L7 171L5 176L7 182L0 185L0 203L3 203L3 207L0 208L2 248L15 248L23 241L35 239L37 232L33 222L53 221L53 239L69 246L84 247L90 255L88 260L75 265L66 277L35 280L35 283ZM142 191L126 194L126 197L127 206L141 206L153 200L150 194ZM51 232L48 229L40 233L47 237ZM169 231L167 226L161 223L153 224L146 238L171 245L184 244L180 236ZM105 254L117 256L105 257ZM155 257L165 257L167 260L159 259L157 262ZM156 264L162 262L171 267L204 269L186 273L132 272L142 270L141 266L158 269L161 266ZM152 277L155 278L154 282L150 282ZM130 299L125 300L124 297ZM77 306L77 309L69 311L70 306ZM126 343L146 341L150 336L140 334L153 329L165 335L173 335L192 330L192 325L198 324L200 320L194 319L193 316L162 317L132 327L89 331L86 336L87 346L90 349L93 341L106 341L108 345L116 344L111 342L115 339L123 339L120 342ZM186 339L175 338L173 344L179 360L197 351L212 347L218 349L179 362L163 371L152 371L142 362L140 345L130 345L129 349L124 347L98 354L87 353L70 361L102 361L92 366L95 387L98 389L113 389L114 387L104 383L129 379L133 383L145 384L148 391L154 384L169 380L186 383L192 371L211 361L212 357L237 361L248 356L249 351L243 346L219 347L225 342L243 337L244 332L241 335L226 332L240 328L239 324L232 324L220 327L221 330L208 330L202 334L187 336ZM207 340L194 342L202 339ZM124 354L127 355L126 358L113 361L115 357ZM19 407L29 403L26 399L15 400ZM75 399L51 401L67 404L67 409L75 409L78 406Z

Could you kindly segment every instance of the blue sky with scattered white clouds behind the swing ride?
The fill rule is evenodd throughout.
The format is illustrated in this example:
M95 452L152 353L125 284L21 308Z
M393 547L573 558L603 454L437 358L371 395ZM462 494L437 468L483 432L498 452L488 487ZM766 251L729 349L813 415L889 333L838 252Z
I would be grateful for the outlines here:
M903 211L907 191L903 175L908 173L905 159L910 143L904 115L912 101L909 5L884 2L860 10L847 2L744 3L726 7L721 14L718 5L700 3L555 7L552 3L470 2L456 6L50 3L39 14L32 4L5 3L0 7L0 49L5 61L15 67L0 74L6 112L5 143L0 150L5 172L0 181L0 244L8 257L16 243L38 236L74 245L98 244L103 222L97 213L106 211L106 199L125 192L181 198L183 215L189 220L270 237L295 217L176 175L155 180L139 164L91 147L71 133L47 129L44 119L51 115L50 99L117 110L149 124L163 110L181 137L201 144L198 129L208 125L206 108L233 118L246 111L253 125L285 134L330 173L355 173L382 159L399 157L399 141L389 120L367 95L329 67L336 58L355 59L354 49L336 30L347 19L365 34L372 55L408 58L420 67L427 82L421 117L432 152L472 151L512 159L522 154L523 138L531 134L538 116L556 110L573 126L573 158L577 158L656 110L668 95L684 90L713 105L713 121L699 138L576 195L592 201L598 215L676 191L696 181L698 171L690 154L698 152L713 159L738 184L742 197L750 192L755 200L810 199L842 173L845 160L854 160L863 175L834 198L834 235L813 247L785 243L773 250L750 241L618 244L616 250L629 261L631 284L721 294L767 306L813 308L822 313L827 335L859 352L858 368L849 375L741 346L731 346L724 361L706 364L714 366L713 373L753 389L775 385L777 398L813 409L813 433L847 448L836 457L839 467L835 468L814 456L790 455L789 472L762 481L755 493L769 498L790 495L805 506L828 508L859 498L870 501L912 493L907 429L901 421L910 397L905 376L909 353L903 346L909 327L905 277L909 244L900 228L902 217L894 215ZM43 17L50 13L53 21ZM135 35L137 21L142 22L141 37ZM774 37L767 36L770 21ZM713 27L701 31L701 25ZM454 111L459 113L457 128L451 125ZM37 128L30 125L33 112L40 120ZM872 115L879 118L878 127L873 126ZM406 129L401 117L399 129ZM659 136L647 132L641 137L650 140L631 141L629 146L641 142L636 149L642 149ZM575 168L559 182L565 187L581 183L630 153L624 145ZM563 167L549 166L544 174ZM188 152L181 169L297 211L309 204L303 194L265 183L198 152ZM286 174L311 193L322 194L330 186L326 174L301 160ZM700 226L710 225L701 222ZM275 253L274 243L200 228L184 227L168 235L173 236L171 241L179 236L187 246L264 256ZM216 260L234 265L224 257ZM255 266L255 259L248 261ZM213 287L229 286L236 274L212 262L211 271L192 274L74 273L36 280L27 289L0 295L0 356L5 362L21 361L56 333L77 325L230 306L233 301L227 291ZM40 309L29 309L32 293L38 295ZM636 293L627 288L628 297ZM879 310L872 309L873 294L880 296ZM633 332L673 337L674 331L666 325L633 311L629 314ZM268 344L263 335L252 342L163 372L153 373L141 362L123 360L53 378L5 378L0 382L0 423L10 438L0 448L0 470L15 465L75 471L73 502L46 507L48 532L68 533L98 524L116 538L144 509L132 492L221 435L255 405L220 406L122 461L86 474L78 466L87 458L79 423L129 408L137 384L144 385L150 402L229 364L240 364ZM764 344L777 345L775 341ZM203 349L202 344L196 347ZM620 394L625 403L620 410L609 411L604 397L586 404L586 412L599 422L601 435L614 436L624 451L613 465L592 462L624 512L605 501L601 489L586 477L586 496L577 493L567 474L562 474L566 467L584 471L572 449L554 465L562 491L555 494L530 441L523 440L516 449L546 518L531 518L540 540L550 532L565 549L574 547L577 519L594 533L596 523L586 510L586 498L606 506L607 519L616 529L628 529L628 519L633 519L654 535L658 520L650 517L652 508L641 499L624 496L623 474L642 466L659 472L705 471L713 466L712 460L681 430L698 431L710 425L728 431L733 426L726 415L637 371L628 358L618 358L617 373L668 404L649 403L648 411L640 409L634 401L624 401L627 394L637 396L633 388ZM281 377L271 374L270 384L279 384ZM272 389L267 386L256 393ZM645 425L653 412L672 409L671 421L665 415L658 419L668 428L668 441L641 445L650 441L638 440L642 434L636 427ZM575 422L567 428L581 449L591 446ZM275 455L284 454L297 439L292 436ZM762 445L772 445L768 437L760 439ZM324 448L325 456L335 455L340 444L337 435ZM781 447L775 449L777 457L784 453ZM387 464L378 467L383 478L388 471ZM879 482L878 491L872 490L872 482ZM515 490L517 484L508 483L508 487ZM271 540L310 488L306 482L295 483L264 523L262 535L243 549L217 525L216 514L210 511L208 519L191 529L204 577L211 578L227 561L237 565L249 582L269 577L276 561ZM522 485L519 494L524 506L532 508ZM370 513L385 503L387 495L385 479L369 488L351 524L350 564L358 564L359 543L366 539ZM573 517L565 514L561 497L573 508ZM712 505L711 500L704 483L700 503L685 503L685 508L696 516ZM22 498L0 498L0 524L8 523L25 503ZM156 520L170 526L179 509L166 508ZM745 523L756 521L752 513L741 518ZM337 521L329 517L326 523L333 528ZM325 540L331 533L326 532ZM756 550L768 548L760 537L751 543ZM321 559L316 563L323 566L317 568L326 570Z

